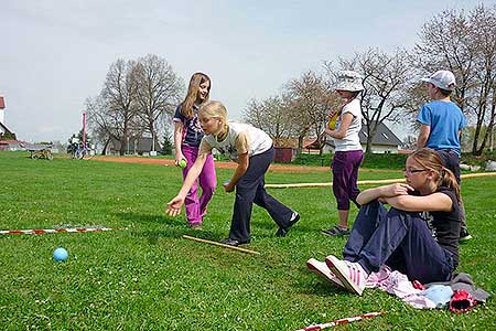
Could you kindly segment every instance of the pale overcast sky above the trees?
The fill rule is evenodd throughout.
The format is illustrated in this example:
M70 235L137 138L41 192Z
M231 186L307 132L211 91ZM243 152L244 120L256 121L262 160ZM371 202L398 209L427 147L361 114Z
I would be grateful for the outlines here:
M250 98L277 95L323 61L370 46L411 47L445 9L495 1L0 1L0 95L18 139L65 142L111 63L157 54L187 83L213 81L212 99L239 119Z

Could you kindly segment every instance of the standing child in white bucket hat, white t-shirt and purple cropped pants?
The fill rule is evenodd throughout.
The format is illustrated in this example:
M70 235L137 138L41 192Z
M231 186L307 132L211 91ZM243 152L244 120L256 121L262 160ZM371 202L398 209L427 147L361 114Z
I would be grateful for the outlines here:
M359 131L362 129L362 106L358 96L364 89L363 77L355 72L344 71L338 75L335 87L337 94L345 100L342 109L331 113L337 115L335 128L325 132L334 139L335 153L332 162L333 193L337 202L339 224L322 233L330 236L349 235L348 214L349 201L357 206L356 197L360 193L357 185L358 168L364 160Z

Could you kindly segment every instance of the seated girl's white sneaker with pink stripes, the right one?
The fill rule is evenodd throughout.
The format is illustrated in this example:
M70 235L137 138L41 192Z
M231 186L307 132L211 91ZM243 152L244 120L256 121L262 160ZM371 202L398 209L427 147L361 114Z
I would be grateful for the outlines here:
M362 296L368 275L358 263L341 260L334 255L330 255L325 258L325 264L347 290Z

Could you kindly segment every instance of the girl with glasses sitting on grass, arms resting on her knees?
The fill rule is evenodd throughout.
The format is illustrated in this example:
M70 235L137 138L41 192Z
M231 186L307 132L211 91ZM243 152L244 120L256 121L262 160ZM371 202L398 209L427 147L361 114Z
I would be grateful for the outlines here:
M362 207L344 259L330 255L326 266L313 258L306 266L357 295L364 291L368 275L382 265L422 284L450 280L459 265L456 179L429 148L407 159L405 178L406 183L368 189L357 196ZM391 209L387 211L384 203Z

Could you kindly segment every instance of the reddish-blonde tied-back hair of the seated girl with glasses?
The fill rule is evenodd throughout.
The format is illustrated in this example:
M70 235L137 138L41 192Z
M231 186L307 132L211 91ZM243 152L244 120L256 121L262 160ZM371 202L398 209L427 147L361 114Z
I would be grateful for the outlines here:
M438 186L446 186L452 189L456 194L456 200L460 203L460 185L456 181L453 172L443 166L443 161L439 153L430 148L421 148L416 150L410 158L416 160L424 169L434 172L434 180L438 182Z

